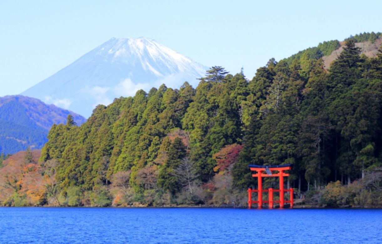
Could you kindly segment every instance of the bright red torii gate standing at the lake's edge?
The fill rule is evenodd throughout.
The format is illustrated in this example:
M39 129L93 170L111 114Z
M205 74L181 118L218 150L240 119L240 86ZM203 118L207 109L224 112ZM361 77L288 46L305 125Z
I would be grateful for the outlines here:
M258 208L262 208L263 203L267 203L269 208L273 208L274 203L280 203L280 208L284 207L285 203L290 203L290 207L293 208L293 188L284 189L284 176L289 176L288 173L284 173L285 170L290 170L292 167L290 164L286 165L276 165L276 166L267 166L267 165L249 165L249 168L253 171L257 171L256 174L253 174L253 177L257 177L257 190L252 190L248 188L248 208L252 207L253 203L256 203ZM264 171L266 174L264 174ZM272 171L278 171L274 173ZM268 190L262 189L262 177L279 177L280 189L269 188ZM252 200L252 192L257 192L257 201ZM268 200L262 200L262 193L268 192ZM280 200L273 200L273 193L280 192ZM290 200L284 200L284 192L290 192Z

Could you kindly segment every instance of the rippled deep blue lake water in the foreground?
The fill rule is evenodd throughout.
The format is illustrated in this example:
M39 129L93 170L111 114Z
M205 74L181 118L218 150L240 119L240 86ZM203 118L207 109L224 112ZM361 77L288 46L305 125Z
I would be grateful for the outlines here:
M382 243L382 210L0 208L1 243Z

